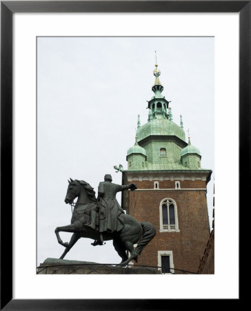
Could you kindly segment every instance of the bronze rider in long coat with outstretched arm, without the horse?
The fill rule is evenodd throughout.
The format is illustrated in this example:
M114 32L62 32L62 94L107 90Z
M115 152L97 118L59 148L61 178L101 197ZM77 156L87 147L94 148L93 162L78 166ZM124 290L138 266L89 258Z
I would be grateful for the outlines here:
M127 189L135 190L137 186L130 185L116 185L112 183L112 176L106 174L104 182L99 182L98 202L99 202L99 232L119 232L123 228L123 220L121 214L124 213L116 199L116 194L119 191ZM91 211L90 227L95 229L96 210Z

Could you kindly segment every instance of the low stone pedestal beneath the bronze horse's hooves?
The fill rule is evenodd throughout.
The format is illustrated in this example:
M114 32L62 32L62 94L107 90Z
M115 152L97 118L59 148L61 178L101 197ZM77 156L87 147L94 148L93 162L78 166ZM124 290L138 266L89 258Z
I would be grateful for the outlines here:
M47 258L37 267L37 274L161 274L155 267L121 266L88 261Z

